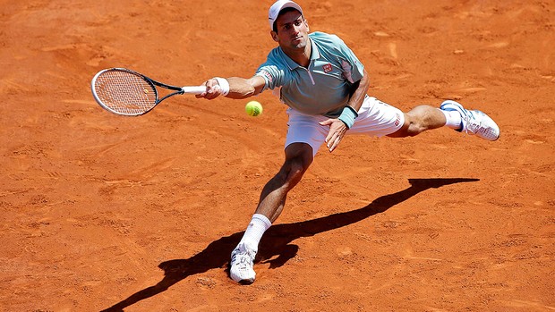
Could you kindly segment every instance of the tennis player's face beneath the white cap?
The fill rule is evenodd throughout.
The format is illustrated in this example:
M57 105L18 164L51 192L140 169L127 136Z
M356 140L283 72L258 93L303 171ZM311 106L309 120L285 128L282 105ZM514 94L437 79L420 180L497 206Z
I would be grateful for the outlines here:
M308 23L298 11L289 11L276 20L277 32L272 38L285 48L304 48L308 43Z

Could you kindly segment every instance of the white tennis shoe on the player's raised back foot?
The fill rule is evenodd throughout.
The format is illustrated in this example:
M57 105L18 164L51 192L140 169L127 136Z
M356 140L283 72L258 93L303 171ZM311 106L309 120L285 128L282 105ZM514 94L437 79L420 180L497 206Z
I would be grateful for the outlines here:
M487 114L481 111L467 110L463 105L451 100L441 103L440 109L444 111L457 111L461 114L463 128L459 131L464 131L490 141L499 139L499 126Z

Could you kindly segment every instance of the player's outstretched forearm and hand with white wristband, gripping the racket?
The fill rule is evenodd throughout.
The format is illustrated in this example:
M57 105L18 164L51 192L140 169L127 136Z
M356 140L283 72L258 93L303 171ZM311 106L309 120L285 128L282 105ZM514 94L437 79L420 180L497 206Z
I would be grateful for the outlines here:
M206 80L206 92L201 93L196 97L204 97L207 99L214 99L216 97L225 95L230 98L247 98L252 97L264 89L266 81L260 76L252 76L250 79L240 77L212 78ZM227 94L226 94L227 91Z

